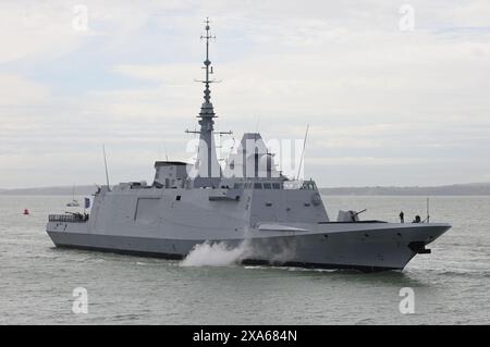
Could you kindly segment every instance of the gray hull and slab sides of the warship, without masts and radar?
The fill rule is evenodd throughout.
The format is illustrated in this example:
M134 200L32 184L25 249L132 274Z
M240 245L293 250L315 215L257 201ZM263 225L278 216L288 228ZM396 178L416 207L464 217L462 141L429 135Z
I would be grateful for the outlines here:
M330 222L308 189L127 189L96 196L90 218L53 216L56 246L181 259L196 245L241 247L240 261L403 269L449 224Z

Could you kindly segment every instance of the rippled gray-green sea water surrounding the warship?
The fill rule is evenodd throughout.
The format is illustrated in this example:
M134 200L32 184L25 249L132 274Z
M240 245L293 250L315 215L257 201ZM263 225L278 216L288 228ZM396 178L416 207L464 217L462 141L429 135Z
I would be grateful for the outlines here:
M402 210L406 221L426 214L426 197L323 201L332 219L340 209L392 222ZM187 262L58 249L46 222L66 202L0 196L0 324L490 323L490 197L431 197L431 221L453 227L404 271L370 274L242 267L209 245ZM74 309L79 288L87 313Z

